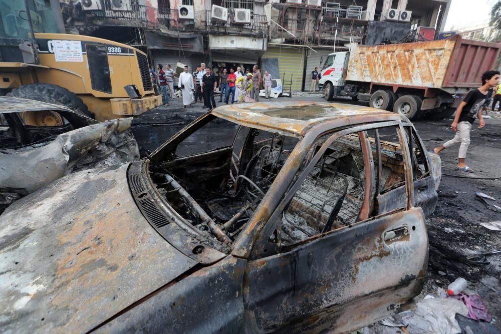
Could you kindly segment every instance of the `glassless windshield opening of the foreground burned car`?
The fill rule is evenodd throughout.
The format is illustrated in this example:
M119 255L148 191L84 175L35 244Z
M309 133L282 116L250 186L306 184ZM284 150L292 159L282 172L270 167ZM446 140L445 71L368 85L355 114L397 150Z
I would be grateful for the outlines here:
M171 159L151 164L150 175L186 222L212 238L232 242L297 143L297 138L216 118L179 142Z

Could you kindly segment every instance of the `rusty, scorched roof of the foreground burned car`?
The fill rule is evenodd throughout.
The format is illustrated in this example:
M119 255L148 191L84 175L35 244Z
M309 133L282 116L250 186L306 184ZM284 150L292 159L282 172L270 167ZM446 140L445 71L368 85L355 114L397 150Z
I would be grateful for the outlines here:
M225 105L211 111L214 116L247 127L304 137L307 132L361 123L403 120L392 112L341 103L306 101L254 102Z

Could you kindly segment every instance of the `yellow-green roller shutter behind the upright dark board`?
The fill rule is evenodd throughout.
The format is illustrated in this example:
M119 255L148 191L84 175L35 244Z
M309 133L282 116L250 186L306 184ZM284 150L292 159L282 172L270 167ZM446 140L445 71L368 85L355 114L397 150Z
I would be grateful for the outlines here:
M269 47L262 58L277 58L279 60L280 78L285 81L292 78L292 90L301 91L304 81L305 51L304 48ZM261 69L264 74L266 69Z

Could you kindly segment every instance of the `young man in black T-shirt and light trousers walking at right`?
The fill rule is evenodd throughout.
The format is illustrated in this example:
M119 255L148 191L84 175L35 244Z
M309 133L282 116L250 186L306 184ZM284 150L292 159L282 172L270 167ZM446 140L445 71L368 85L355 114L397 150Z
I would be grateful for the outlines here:
M466 151L470 144L469 132L471 125L475 122L475 117L478 118L478 128L483 128L485 123L482 119L482 105L487 98L488 90L499 84L499 72L487 71L482 74L482 86L472 89L466 94L464 100L459 104L456 110L454 122L451 124L453 131L456 131L454 138L442 144L442 146L434 148L433 152L439 154L440 151L451 147L452 145L461 143L459 146L457 168L463 172L473 173L473 170L466 165Z

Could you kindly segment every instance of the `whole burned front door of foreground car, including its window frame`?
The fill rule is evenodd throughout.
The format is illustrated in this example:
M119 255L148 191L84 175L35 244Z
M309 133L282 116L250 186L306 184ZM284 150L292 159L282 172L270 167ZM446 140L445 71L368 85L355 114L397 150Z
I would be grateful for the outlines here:
M313 197L325 193L325 189L321 188L310 192L303 190L308 188L305 183L309 179L309 186L321 183L321 169L325 167L328 157L334 161L329 167L332 174L342 178L347 176L346 169L339 166L341 162L353 165L353 160L358 166L361 160L353 153L350 153L352 159L347 159L347 155L339 154L339 151L329 152L333 147L340 146L353 152L352 142L346 144L346 140L352 140L347 135L354 134L345 130L329 135L327 140L322 139L323 142L318 145L321 148L314 152L311 162L299 173L282 204L274 211L267 224L271 228L265 226L263 241L256 246L260 248L255 252L256 258L247 264L243 291L246 322L252 328L251 332L351 331L396 312L421 290L428 250L424 215L421 209L404 205L383 215L370 216L368 206L374 201L373 155L367 133L360 131L355 134L360 140L364 168L360 174L363 189L359 212L354 219L336 217L337 222L332 229L325 231L321 226L314 235L284 244L285 234L294 234L286 228L286 221L291 219L286 214L290 213L291 207L296 212L308 213L312 226L323 217L328 217L327 222L332 217L332 214L308 212L313 206L301 208L297 204L301 202L298 192ZM314 145L314 149L318 146ZM341 162L336 163L336 159ZM409 158L404 159L408 161ZM409 170L405 169L407 176ZM357 177L356 172L352 175L355 176L349 181ZM324 181L330 187L338 183L334 178L325 178ZM351 189L357 186L353 182L355 185ZM406 199L411 193L408 182L405 182L405 188ZM344 210L343 215L351 217L344 206L347 199L348 203L352 203L356 202L356 198L350 192L346 192L344 198L337 216ZM331 202L329 204L326 200L317 208L324 210L330 206L335 210L337 201ZM308 219L308 216L302 217ZM294 218L294 221L298 223L300 219ZM302 226L297 232L307 229L307 226ZM272 230L275 232L270 233ZM268 255L273 247L267 246L266 242L281 244L280 250Z

